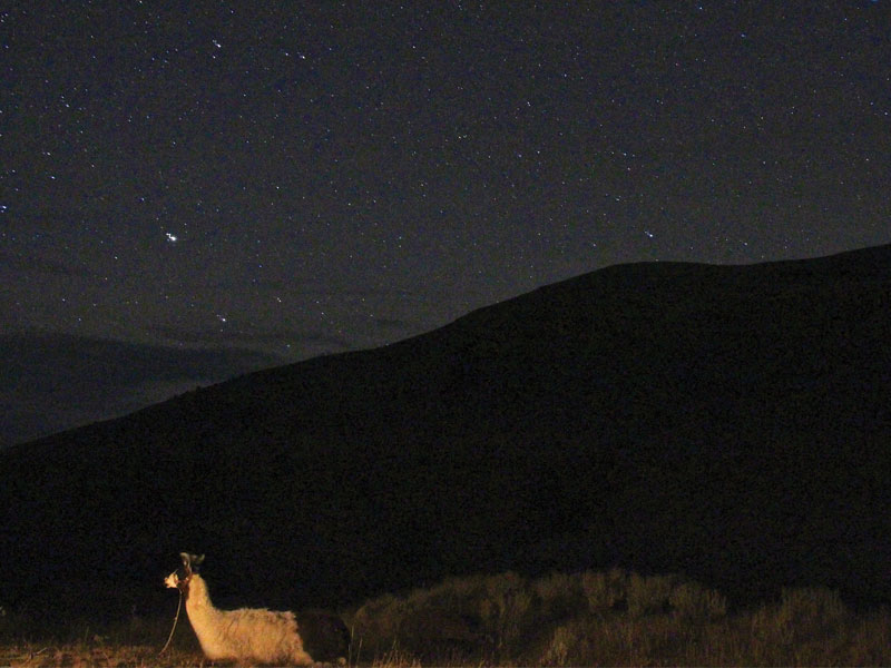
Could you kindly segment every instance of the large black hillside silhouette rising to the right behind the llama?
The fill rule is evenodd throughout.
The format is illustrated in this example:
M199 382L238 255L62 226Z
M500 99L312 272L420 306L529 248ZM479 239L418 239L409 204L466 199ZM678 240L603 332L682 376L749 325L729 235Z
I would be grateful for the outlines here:
M0 603L169 607L180 550L273 607L610 566L888 601L889 341L891 246L608 267L2 451Z

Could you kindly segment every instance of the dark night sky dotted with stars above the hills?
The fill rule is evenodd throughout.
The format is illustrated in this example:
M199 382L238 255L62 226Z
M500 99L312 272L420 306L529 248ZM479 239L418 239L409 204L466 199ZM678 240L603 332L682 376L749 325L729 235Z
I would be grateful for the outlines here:
M0 323L298 360L616 263L891 243L889 17L7 4Z

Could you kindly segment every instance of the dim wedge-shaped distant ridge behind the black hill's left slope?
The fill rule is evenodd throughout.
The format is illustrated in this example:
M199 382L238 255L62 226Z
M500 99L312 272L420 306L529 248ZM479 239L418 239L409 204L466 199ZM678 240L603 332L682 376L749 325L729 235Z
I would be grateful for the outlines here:
M0 448L131 413L196 384L282 362L246 350L178 348L55 332L0 334Z

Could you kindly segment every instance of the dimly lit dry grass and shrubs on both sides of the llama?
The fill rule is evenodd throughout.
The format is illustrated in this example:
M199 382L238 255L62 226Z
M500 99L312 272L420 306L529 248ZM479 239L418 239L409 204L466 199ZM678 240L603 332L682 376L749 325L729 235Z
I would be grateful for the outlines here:
M173 606L173 603L172 603ZM728 609L725 597L676 576L513 572L451 578L345 611L350 666L875 666L891 665L891 613L854 612L825 588ZM200 650L185 612L105 629L41 631L7 613L0 665L192 666Z

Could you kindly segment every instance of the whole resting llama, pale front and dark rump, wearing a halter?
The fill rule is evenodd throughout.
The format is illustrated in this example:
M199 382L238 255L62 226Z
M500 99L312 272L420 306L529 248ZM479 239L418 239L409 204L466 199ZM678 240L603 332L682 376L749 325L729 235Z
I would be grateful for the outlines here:
M298 625L293 612L255 608L219 610L210 602L207 583L197 573L204 554L180 552L179 556L183 558L183 574L174 571L164 583L179 589L185 597L192 628L202 650L212 661L309 666L315 660L345 656L349 636L339 618L311 613L301 616Z

